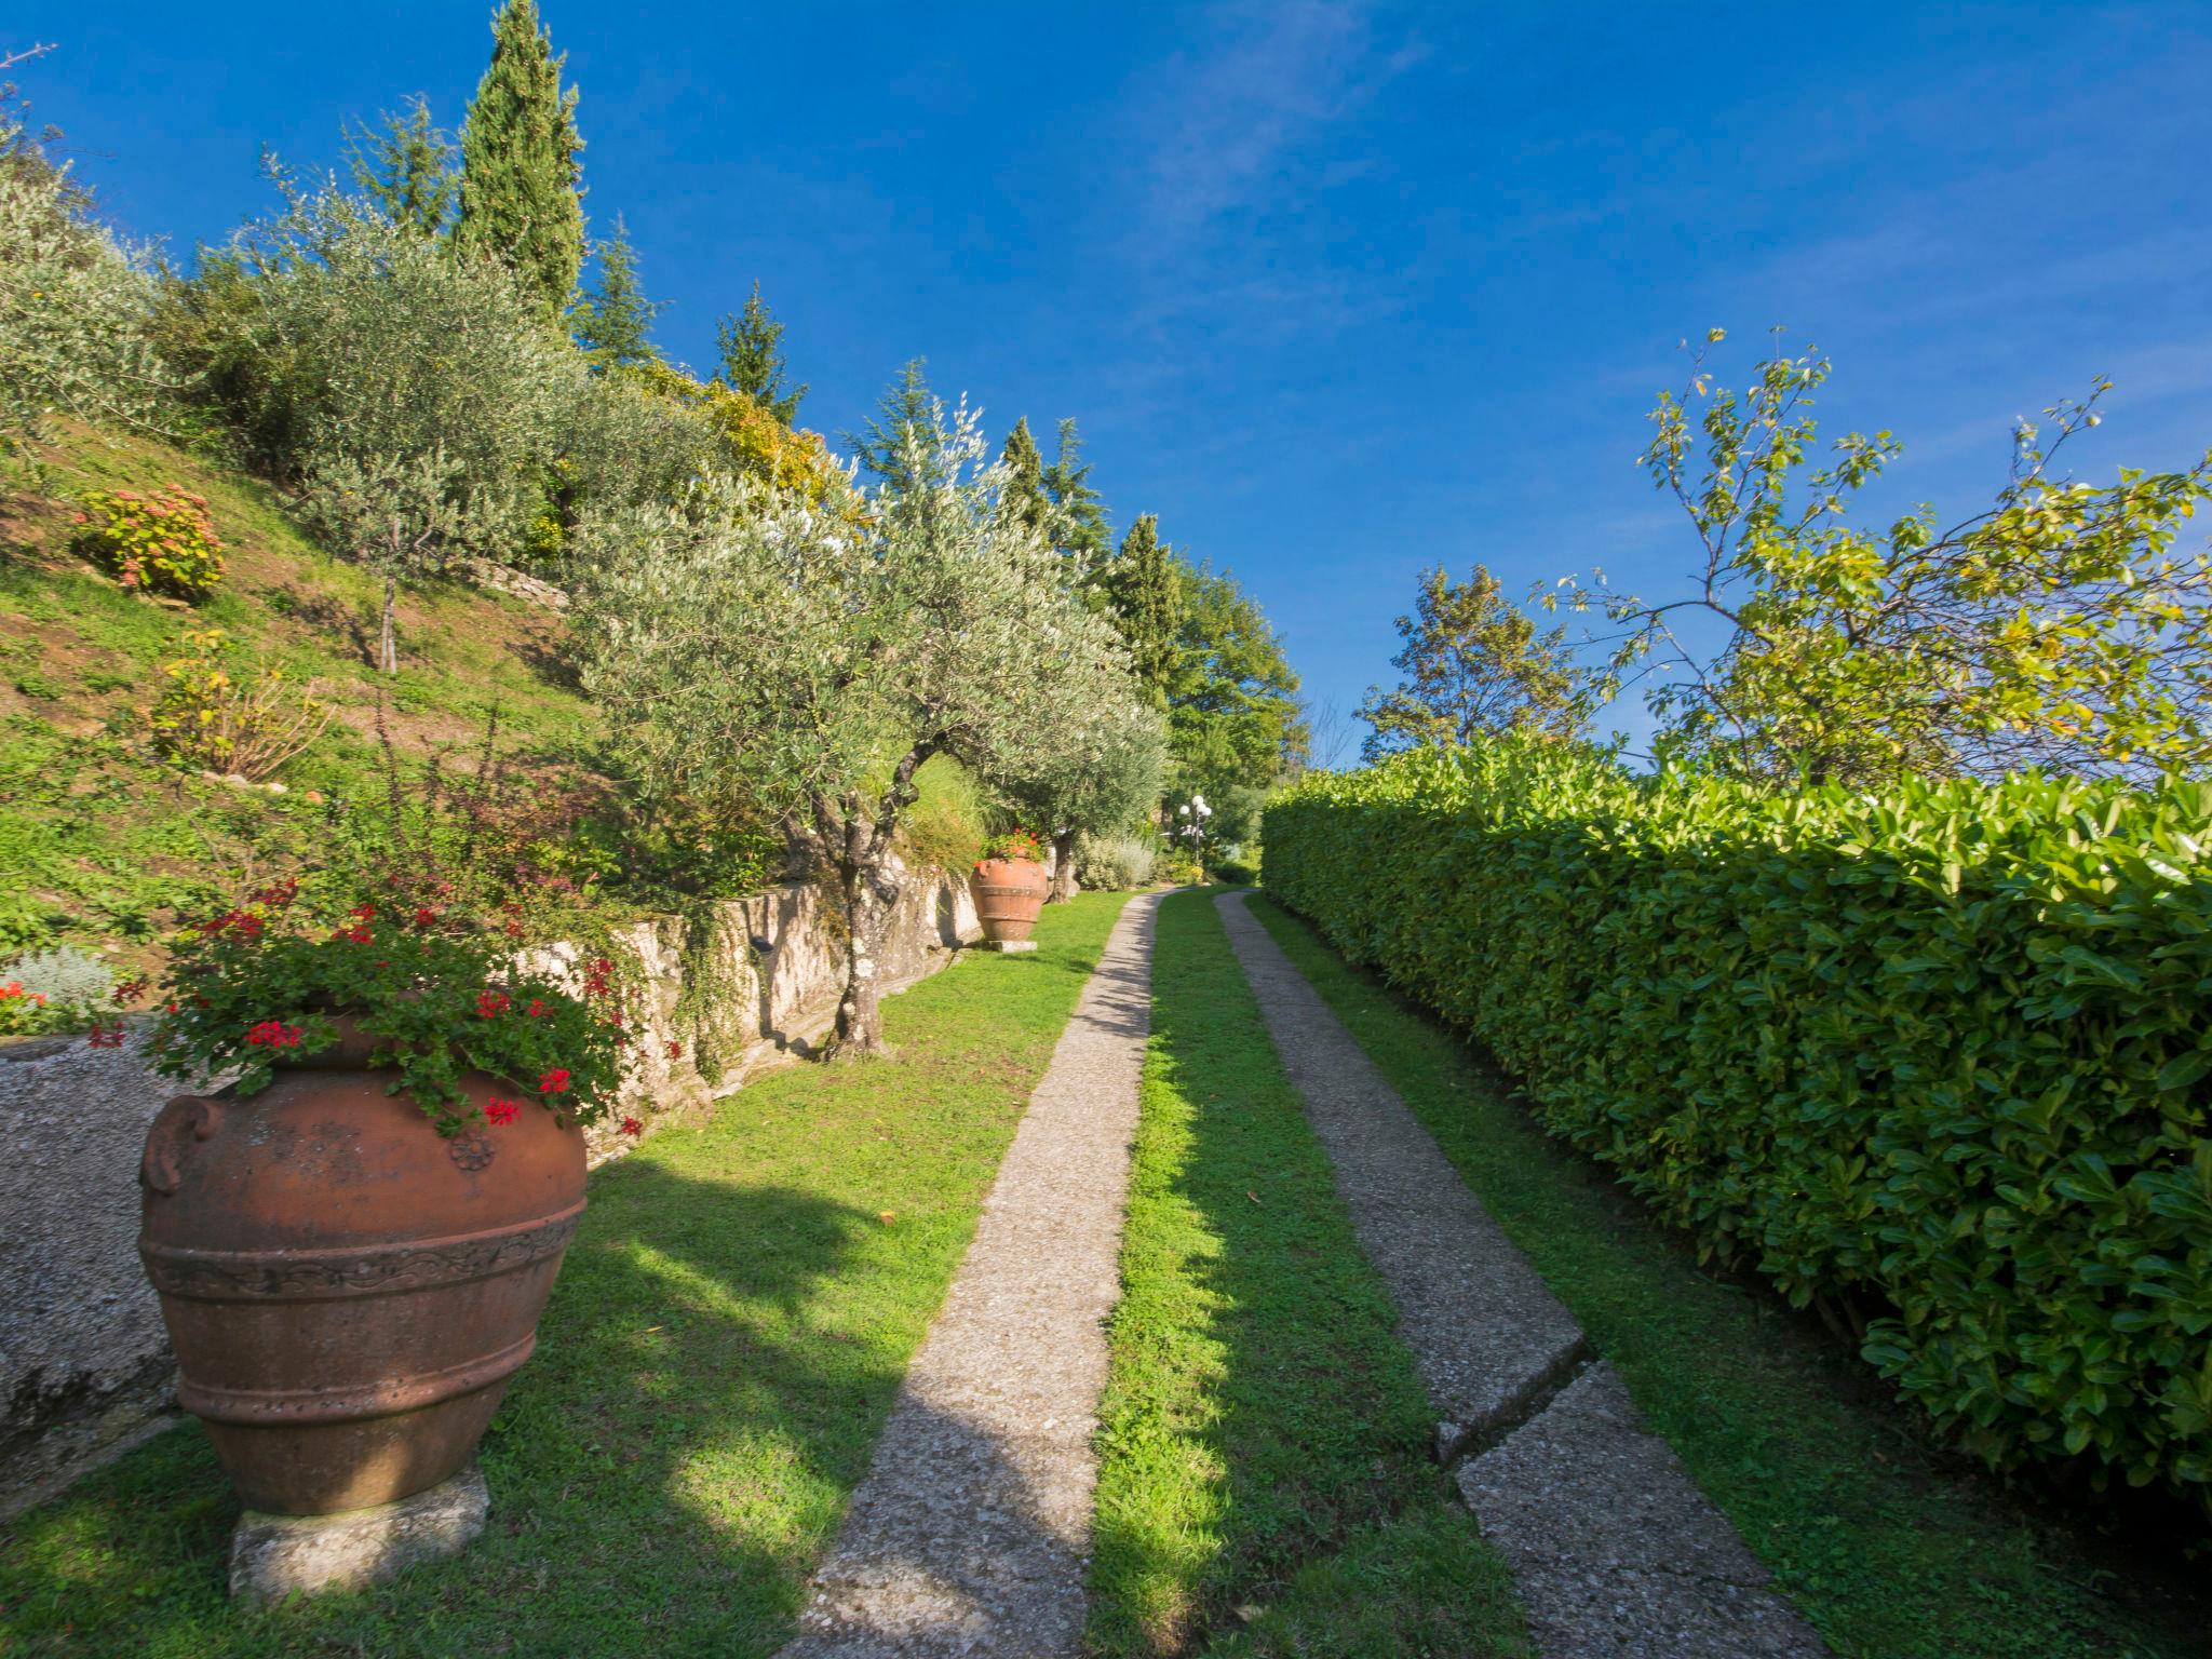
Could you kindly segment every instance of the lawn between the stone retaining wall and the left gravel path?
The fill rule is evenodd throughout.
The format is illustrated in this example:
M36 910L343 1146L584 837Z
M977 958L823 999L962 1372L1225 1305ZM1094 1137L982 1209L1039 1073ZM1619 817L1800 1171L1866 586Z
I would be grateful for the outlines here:
M770 1073L593 1177L467 1555L239 1608L237 1500L177 1429L0 1531L0 1652L772 1652L1121 902L894 998L896 1057Z

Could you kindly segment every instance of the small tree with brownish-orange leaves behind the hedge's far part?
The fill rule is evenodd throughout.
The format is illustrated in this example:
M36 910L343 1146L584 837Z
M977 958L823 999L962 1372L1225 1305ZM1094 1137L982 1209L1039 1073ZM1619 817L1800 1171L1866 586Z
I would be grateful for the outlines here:
M1582 672L1564 624L1540 635L1480 564L1467 582L1453 582L1444 566L1425 573L1413 606L1411 617L1398 617L1405 650L1391 657L1405 679L1391 692L1369 686L1360 703L1360 719L1374 728L1363 759L1467 743L1484 732L1582 732Z

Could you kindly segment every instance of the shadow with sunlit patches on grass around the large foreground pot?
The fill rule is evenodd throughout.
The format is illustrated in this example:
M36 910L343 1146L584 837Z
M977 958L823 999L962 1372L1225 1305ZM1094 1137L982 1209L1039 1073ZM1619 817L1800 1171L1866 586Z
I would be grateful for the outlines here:
M0 1646L772 1652L898 1387L818 1305L880 1232L807 1192L606 1170L484 1440L491 1522L467 1555L292 1610L232 1606L237 1500L186 1427L0 1533Z

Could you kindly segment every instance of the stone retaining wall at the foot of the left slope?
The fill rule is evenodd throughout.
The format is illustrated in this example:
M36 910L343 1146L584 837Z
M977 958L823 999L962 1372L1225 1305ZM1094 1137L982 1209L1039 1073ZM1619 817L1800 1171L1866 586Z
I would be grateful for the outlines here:
M885 949L885 989L978 938L967 883L916 872ZM703 1115L761 1068L821 1042L843 989L836 905L776 887L717 905L706 938L679 918L617 931L639 1066L624 1110L648 1133ZM573 947L555 947L573 962ZM84 1037L0 1044L0 1520L161 1427L175 1367L137 1261L137 1161L179 1086ZM591 1130L591 1159L635 1146Z

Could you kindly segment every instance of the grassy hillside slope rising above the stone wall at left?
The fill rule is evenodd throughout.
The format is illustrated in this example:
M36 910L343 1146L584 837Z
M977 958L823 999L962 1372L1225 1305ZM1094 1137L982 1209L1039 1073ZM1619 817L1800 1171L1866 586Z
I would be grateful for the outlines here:
M611 783L619 750L568 672L557 611L458 580L403 593L400 672L387 679L374 670L376 580L323 553L268 484L82 429L44 462L38 491L0 495L0 960L73 942L128 973L157 958L181 916L312 860L383 796L378 699L403 757L451 750L458 772L473 768L495 712L511 768L546 792L551 863L597 902L641 911L670 891L763 878L757 836L677 872L670 847L626 841L635 825ZM204 495L226 542L228 573L199 606L131 593L69 549L73 495L166 484ZM281 792L206 779L153 750L146 710L161 664L204 626L241 646L241 668L276 664L334 708L327 732L279 774ZM973 785L949 763L922 783L911 856L971 856ZM670 834L695 849L714 832Z

